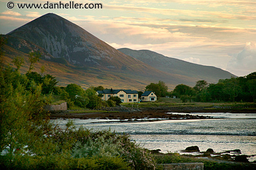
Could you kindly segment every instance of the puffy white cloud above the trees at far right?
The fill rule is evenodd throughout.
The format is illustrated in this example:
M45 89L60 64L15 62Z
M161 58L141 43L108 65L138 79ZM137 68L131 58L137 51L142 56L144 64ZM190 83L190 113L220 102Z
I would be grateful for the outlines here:
M233 54L227 70L238 76L246 76L256 71L256 42L246 43L244 49L238 54Z

